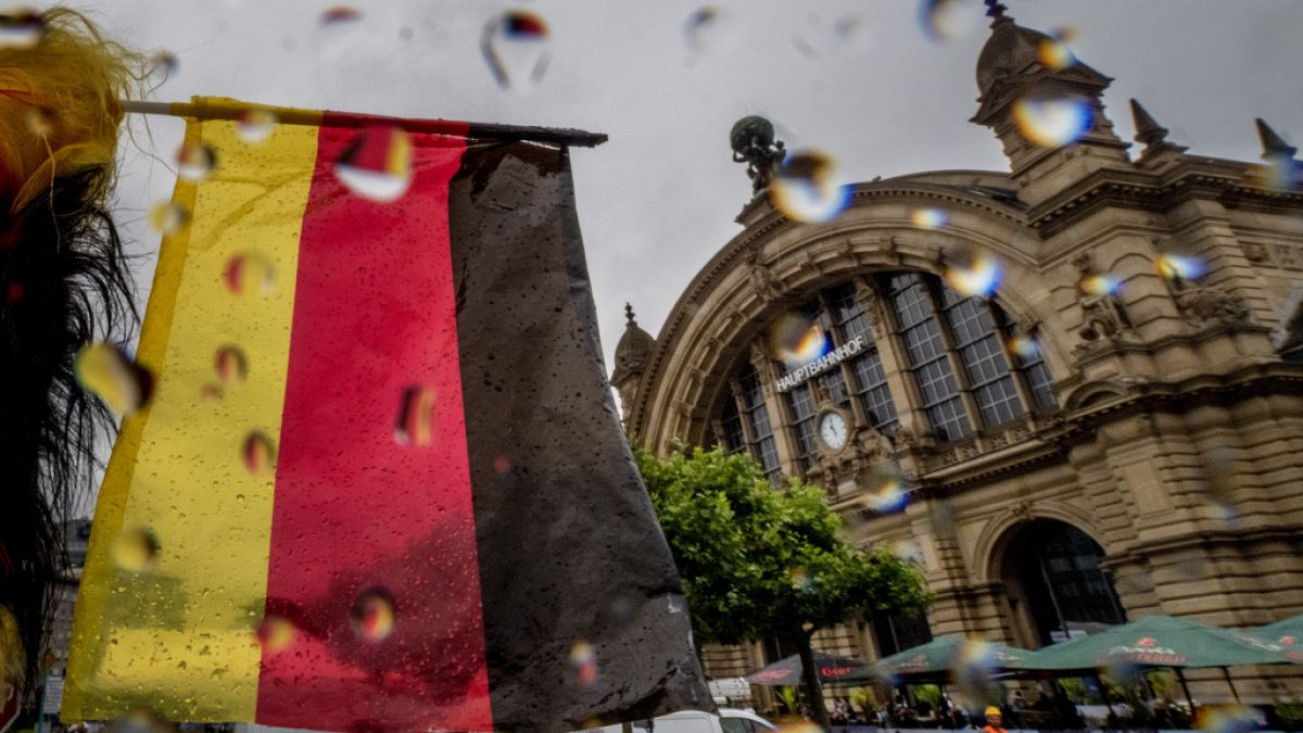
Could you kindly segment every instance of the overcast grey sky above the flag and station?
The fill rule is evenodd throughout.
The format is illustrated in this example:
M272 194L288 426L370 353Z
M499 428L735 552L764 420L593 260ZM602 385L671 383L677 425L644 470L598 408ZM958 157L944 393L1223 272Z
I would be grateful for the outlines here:
M976 1L976 0L969 0ZM1303 3L1296 0L1005 0L1020 25L1067 27L1078 57L1114 77L1108 113L1126 140L1140 99L1171 138L1201 155L1256 160L1252 119L1303 143ZM917 0L714 3L715 22L685 33L701 3L679 0L403 0L352 3L112 0L81 5L117 38L179 61L155 91L417 117L577 127L611 141L575 151L579 211L607 364L623 304L655 334L696 271L739 227L749 197L730 159L732 123L769 116L790 149L816 147L847 180L937 168L1007 170L976 111L973 69L989 33L945 43ZM551 29L537 85L503 90L480 52L496 13L520 7ZM837 29L843 29L838 33ZM844 33L846 29L852 29ZM158 158L180 142L151 120ZM149 149L150 141L141 138ZM121 218L143 250L145 213L175 175L128 154ZM152 261L142 279L152 275Z

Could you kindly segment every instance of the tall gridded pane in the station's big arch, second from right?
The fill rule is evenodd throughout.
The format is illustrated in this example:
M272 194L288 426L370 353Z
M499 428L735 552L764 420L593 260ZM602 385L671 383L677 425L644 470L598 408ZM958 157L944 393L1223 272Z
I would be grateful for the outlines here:
M1023 415L1023 400L1014 387L1014 376L1009 372L1005 347L986 301L962 297L945 286L941 300L982 425L1001 425Z

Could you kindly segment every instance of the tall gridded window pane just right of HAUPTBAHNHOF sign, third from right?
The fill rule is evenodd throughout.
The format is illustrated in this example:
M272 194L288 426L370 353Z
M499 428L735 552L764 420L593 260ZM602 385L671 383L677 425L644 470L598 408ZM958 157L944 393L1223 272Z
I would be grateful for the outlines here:
M972 432L972 426L946 357L932 297L913 273L893 275L889 284L889 297L900 329L898 333L904 342L932 429L942 442L962 438Z

